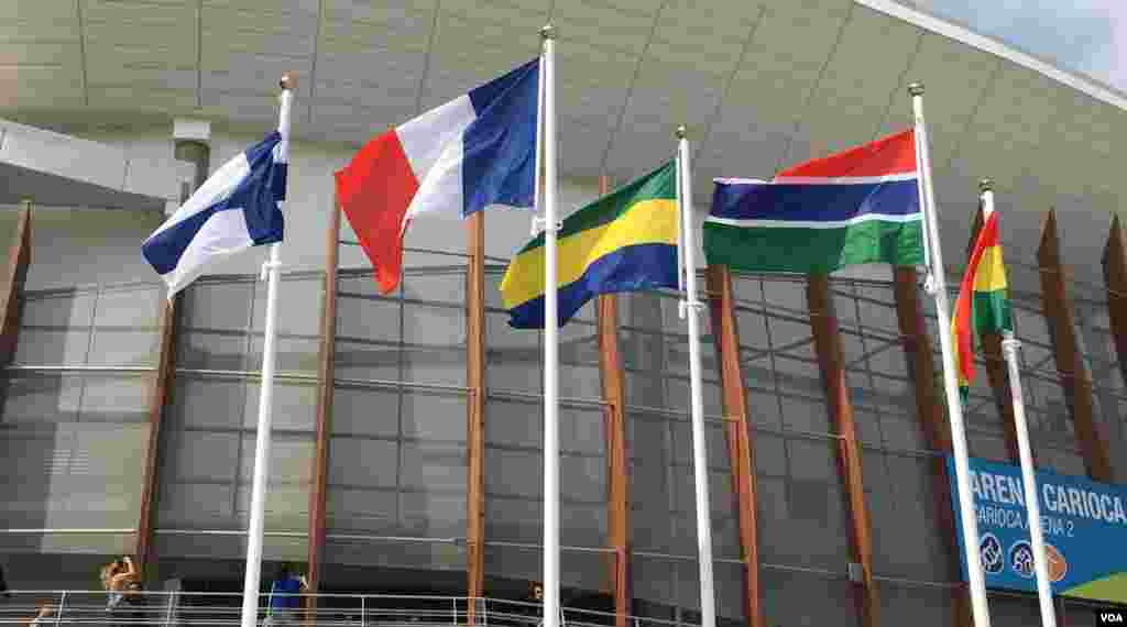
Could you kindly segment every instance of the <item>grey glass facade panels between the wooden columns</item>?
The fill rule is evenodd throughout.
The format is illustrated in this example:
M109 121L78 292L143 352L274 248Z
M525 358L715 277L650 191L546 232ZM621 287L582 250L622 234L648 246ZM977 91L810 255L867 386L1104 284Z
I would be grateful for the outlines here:
M487 594L521 597L541 568L542 338L508 328L497 288L502 270L487 269L485 290L485 576ZM369 270L338 276L322 589L464 593L465 415L472 392L465 272L464 262L412 267L390 295L375 289ZM282 283L264 552L272 562L303 562L308 554L323 281L322 272L290 272ZM831 285L861 445L880 611L886 621L950 625L959 584L941 496L948 480L942 451L916 418L893 285ZM806 281L737 276L734 288L758 491L760 594L769 624L859 625L846 576L851 514L842 437L824 393ZM162 295L153 284L23 295L18 350L2 384L5 552L131 550ZM929 298L921 301L939 365L934 313ZM176 371L159 442L159 573L228 581L238 577L245 549L265 284L254 276L207 277L180 303ZM1038 463L1083 474L1040 297L1015 293L1013 305ZM696 512L689 344L677 307L673 294L621 295L618 341L633 611L692 624L700 619ZM1074 314L1097 420L1122 478L1127 386L1106 302L1098 293L1080 293ZM707 315L702 332L717 607L725 625L736 625L746 620L739 512ZM593 304L561 329L560 340L564 602L605 609L614 559L607 539L609 405ZM1004 460L1000 405L987 364L978 358L967 411L970 450ZM992 606L997 625L1028 624L1036 616L1028 597L994 595Z

